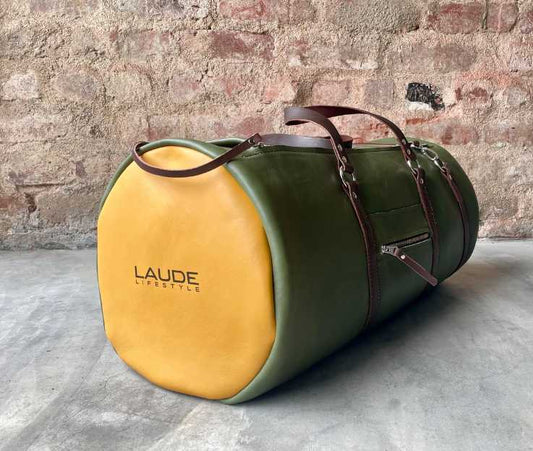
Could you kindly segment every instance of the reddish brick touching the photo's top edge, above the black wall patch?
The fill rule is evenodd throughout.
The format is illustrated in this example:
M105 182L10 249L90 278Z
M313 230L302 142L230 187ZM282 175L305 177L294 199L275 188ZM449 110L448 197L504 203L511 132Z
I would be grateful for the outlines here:
M442 33L472 33L481 29L484 5L470 3L433 3L427 17L428 28Z

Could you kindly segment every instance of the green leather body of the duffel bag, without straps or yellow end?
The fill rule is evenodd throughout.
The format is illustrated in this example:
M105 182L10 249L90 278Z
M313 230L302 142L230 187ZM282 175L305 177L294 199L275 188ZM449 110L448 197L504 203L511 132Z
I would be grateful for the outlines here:
M180 145L216 157L238 142L163 140L147 144L141 151ZM464 197L471 231L470 256L479 222L474 190L444 148L426 144L448 163ZM349 158L379 245L429 233L415 182L398 147L355 147L349 151ZM458 269L461 260L461 216L438 168L423 156L418 160L426 172L439 231L440 254L433 273L442 281ZM130 157L123 163L114 180L131 161ZM225 400L236 404L290 379L360 333L369 293L363 238L342 190L331 150L253 148L226 166L250 196L263 221L272 256L276 311L276 338L271 354L254 380ZM405 250L431 269L430 239ZM378 268L379 321L419 296L427 284L387 254L378 252Z

